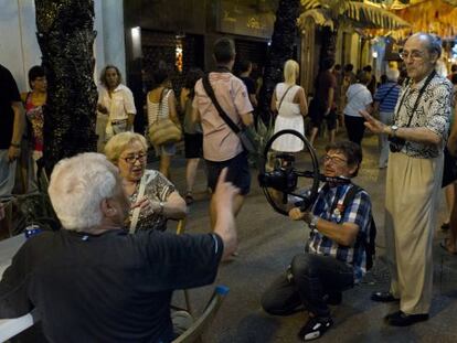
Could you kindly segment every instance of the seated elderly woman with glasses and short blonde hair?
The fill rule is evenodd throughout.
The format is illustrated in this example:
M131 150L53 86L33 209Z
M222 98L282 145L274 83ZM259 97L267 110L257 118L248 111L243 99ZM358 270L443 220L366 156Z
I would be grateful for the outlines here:
M168 218L185 216L185 202L174 185L160 172L146 169L148 146L145 137L134 132L118 133L107 142L105 154L119 168L124 191L132 204L130 221L135 208L140 208L136 227L130 227L130 232L164 231Z

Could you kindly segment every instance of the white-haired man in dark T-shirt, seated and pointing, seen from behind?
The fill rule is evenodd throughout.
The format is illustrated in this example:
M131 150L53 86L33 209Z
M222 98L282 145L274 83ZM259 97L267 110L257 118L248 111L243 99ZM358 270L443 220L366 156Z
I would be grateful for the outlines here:
M63 229L30 238L0 281L0 318L38 311L50 342L170 342L174 289L214 281L236 248L233 199L221 173L214 233L129 235L130 204L103 154L61 161L49 193Z

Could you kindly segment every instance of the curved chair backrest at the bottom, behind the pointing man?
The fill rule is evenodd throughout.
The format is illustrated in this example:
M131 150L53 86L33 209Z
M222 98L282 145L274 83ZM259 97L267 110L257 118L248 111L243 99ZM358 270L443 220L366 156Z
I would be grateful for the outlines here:
M219 308L225 296L228 293L228 287L216 286L210 301L208 302L203 313L193 322L193 324L184 331L172 343L193 343L203 333L204 329L213 321Z

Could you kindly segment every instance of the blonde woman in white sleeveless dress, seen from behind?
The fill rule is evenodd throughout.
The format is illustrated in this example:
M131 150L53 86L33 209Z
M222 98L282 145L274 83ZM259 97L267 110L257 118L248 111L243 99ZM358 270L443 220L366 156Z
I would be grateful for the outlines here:
M308 114L305 89L298 86L298 63L288 60L284 65L284 83L277 84L272 98L272 110L277 114L275 133L280 130L295 130L305 136L304 117ZM297 152L304 149L304 142L296 136L283 135L272 148L276 151Z

